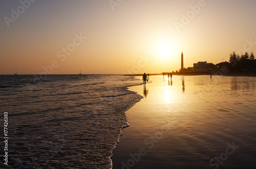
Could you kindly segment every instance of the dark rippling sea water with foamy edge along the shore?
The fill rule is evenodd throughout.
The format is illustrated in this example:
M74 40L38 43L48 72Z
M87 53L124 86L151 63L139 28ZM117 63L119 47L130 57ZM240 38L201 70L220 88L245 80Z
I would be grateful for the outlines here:
M142 84L130 76L0 75L0 80L0 120L4 124L8 112L9 137L8 166L1 158L1 168L111 168L121 129L129 126L124 111L142 98L126 89Z

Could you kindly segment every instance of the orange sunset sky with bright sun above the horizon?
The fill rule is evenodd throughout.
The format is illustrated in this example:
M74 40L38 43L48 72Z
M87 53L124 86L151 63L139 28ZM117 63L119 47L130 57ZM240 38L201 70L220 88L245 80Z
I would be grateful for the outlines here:
M0 1L0 74L179 70L256 54L255 0Z

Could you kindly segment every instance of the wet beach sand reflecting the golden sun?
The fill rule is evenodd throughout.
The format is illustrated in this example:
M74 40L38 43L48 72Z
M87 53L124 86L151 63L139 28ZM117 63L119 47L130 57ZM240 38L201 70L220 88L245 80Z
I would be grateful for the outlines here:
M126 111L113 168L254 168L255 78L246 78L241 91L240 77L151 76L146 89L130 87L144 99Z

